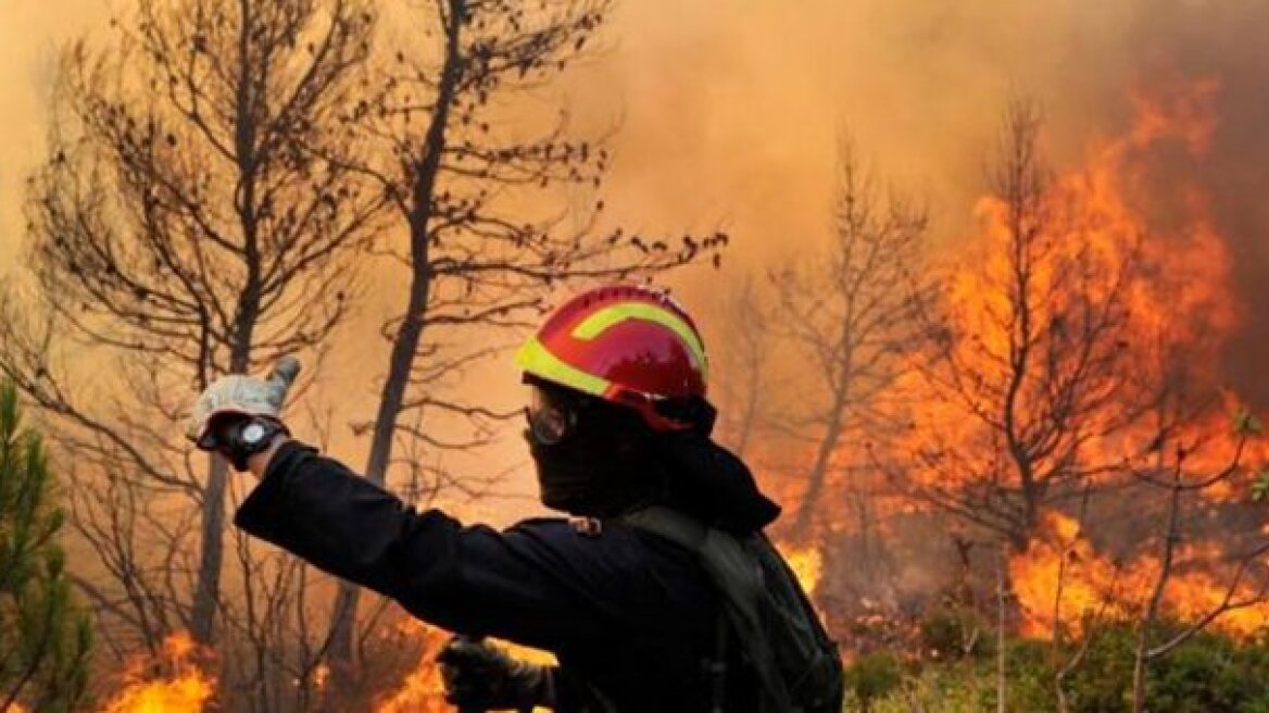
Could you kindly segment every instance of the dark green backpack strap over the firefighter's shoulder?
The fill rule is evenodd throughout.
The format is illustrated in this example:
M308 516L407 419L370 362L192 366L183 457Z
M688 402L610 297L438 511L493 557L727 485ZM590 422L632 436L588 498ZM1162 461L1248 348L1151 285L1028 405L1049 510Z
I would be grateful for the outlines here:
M618 521L661 535L697 554L721 594L722 612L731 624L722 628L730 628L740 639L746 658L770 699L772 709L794 710L763 628L759 603L765 585L761 567L741 542L726 532L707 528L683 513L660 505L626 513Z

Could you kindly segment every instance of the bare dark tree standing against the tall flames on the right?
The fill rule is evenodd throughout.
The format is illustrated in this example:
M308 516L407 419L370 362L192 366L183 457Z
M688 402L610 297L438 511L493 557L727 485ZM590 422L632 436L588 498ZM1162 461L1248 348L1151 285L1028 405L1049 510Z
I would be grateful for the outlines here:
M1105 249L1094 208L1053 180L1042 119L1010 103L990 170L985 250L925 315L931 354L916 360L930 407L914 414L910 492L1025 549L1043 506L1075 500L1114 463L1086 445L1137 417L1127 378L1128 289L1141 236ZM1105 228L1109 230L1109 228ZM1107 236L1103 236L1105 239Z

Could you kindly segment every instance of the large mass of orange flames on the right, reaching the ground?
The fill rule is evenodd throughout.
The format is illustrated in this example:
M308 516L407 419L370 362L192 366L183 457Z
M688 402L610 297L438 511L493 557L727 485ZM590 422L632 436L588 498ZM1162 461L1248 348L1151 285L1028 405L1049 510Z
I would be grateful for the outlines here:
M943 494L1019 497L963 502L1004 502L1000 510L1015 519L999 521L1025 535L1025 547L1011 542L1009 557L1024 636L1051 637L1058 625L1077 636L1089 617L1140 617L1161 572L1167 478L1192 485L1223 471L1228 477L1187 491L1178 506L1207 507L1208 529L1176 538L1159 615L1193 622L1232 600L1247 605L1221 614L1216 628L1250 636L1269 622L1269 606L1258 601L1264 562L1254 562L1247 573L1255 573L1231 592L1236 538L1221 524L1235 516L1218 510L1237 505L1246 476L1266 462L1259 420L1222 374L1222 348L1240 329L1244 308L1231 287L1230 241L1217 228L1202 180L1220 126L1213 110L1220 91L1216 81L1169 79L1134 93L1131 128L1093 141L1081 165L1047 178L1042 241L1019 247L1010 203L982 198L978 235L947 275L950 334L961 335L943 344L953 365L939 374L939 387L917 376L924 364L901 383L915 406L900 452L924 454L909 477ZM1037 252L1019 258L1016 250ZM1030 270L1029 282L1016 279L1019 261ZM1019 326L1019 289L1028 291L1022 301L1030 326ZM1118 310L1115 318L1094 321L1110 310ZM1061 335L1100 325L1115 330L1100 346ZM1014 360L1019 344L1032 346L1025 370ZM1072 354L1065 344L1100 351ZM1096 368L1103 373L1080 372ZM1061 388L1075 378L1084 382L1062 401ZM1159 396L1174 386L1173 401ZM1214 406L1165 428L1161 412L1178 393ZM1066 439L1015 444L1032 459L1029 474L1056 473L1041 486L1049 490L1037 500L1044 505L1029 528L1018 495L1023 466L1001 425L1010 422L1023 424L1014 433L1024 440L1053 424L1053 438ZM1080 476L1063 481L1067 472ZM1060 495L1060 487L1067 491ZM1074 513L1085 488L1101 502L1100 514L1081 527Z

